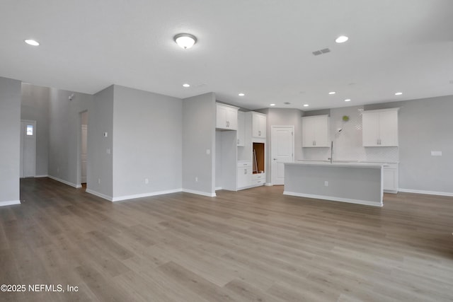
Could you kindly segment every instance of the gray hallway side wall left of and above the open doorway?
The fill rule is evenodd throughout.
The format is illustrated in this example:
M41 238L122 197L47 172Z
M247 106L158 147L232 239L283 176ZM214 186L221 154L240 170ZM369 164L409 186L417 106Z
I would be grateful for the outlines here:
M80 113L92 103L93 95L50 88L48 175L73 187L80 185Z

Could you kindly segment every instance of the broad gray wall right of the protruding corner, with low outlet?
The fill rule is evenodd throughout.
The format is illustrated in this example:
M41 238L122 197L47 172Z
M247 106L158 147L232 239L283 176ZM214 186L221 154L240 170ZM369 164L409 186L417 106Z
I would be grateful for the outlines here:
M116 85L114 91L113 199L180 191L182 100Z

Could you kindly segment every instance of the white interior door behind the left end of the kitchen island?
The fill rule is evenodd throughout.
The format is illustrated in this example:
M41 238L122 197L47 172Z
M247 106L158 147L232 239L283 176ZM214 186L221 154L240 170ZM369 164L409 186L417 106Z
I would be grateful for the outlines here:
M271 128L272 184L283 185L284 163L294 161L294 126L272 126Z

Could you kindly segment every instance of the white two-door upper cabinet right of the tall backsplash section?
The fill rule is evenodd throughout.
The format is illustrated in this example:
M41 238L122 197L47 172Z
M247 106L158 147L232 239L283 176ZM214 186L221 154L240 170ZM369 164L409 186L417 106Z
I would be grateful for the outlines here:
M398 146L398 109L362 112L362 146Z

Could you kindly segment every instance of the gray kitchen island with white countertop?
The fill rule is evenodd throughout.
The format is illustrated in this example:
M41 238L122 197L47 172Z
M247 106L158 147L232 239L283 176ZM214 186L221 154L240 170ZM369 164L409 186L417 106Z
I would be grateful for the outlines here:
M382 166L379 163L285 163L283 194L382 207Z

